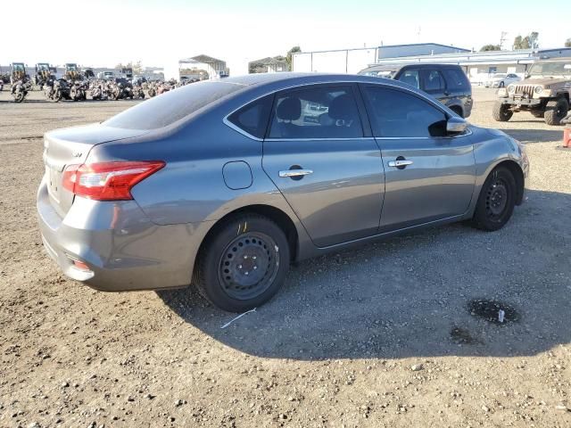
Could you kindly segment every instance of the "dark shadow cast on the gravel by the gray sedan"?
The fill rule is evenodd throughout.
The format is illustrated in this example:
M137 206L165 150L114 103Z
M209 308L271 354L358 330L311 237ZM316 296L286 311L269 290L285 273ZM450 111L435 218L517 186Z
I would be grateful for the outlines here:
M571 342L571 194L527 197L499 232L456 224L303 261L226 328L236 314L194 287L159 295L186 323L265 358L535 355Z

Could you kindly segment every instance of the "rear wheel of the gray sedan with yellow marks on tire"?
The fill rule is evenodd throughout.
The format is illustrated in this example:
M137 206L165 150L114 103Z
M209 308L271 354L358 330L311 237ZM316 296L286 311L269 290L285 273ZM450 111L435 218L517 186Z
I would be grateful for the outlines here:
M244 312L277 293L289 262L284 231L269 218L244 214L228 219L207 238L193 282L217 308Z

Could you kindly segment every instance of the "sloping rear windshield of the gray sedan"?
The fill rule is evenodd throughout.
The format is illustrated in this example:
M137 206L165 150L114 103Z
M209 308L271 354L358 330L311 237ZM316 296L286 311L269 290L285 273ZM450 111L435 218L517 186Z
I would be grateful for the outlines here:
M193 83L156 95L105 120L103 125L126 129L164 128L242 88L244 86L226 82Z

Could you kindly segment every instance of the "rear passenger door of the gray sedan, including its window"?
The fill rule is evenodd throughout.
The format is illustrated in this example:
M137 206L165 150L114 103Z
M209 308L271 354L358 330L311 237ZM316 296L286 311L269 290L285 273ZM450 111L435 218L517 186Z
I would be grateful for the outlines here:
M278 93L263 169L319 247L377 233L385 190L381 152L356 86Z

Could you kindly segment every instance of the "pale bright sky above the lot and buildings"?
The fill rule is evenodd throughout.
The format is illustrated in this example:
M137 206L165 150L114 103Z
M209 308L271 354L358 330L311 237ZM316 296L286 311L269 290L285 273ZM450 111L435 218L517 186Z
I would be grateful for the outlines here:
M554 22L556 11L569 11L567 2L551 0L542 12L531 0L58 0L57 7L27 0L23 19L2 24L0 64L162 67L204 53L238 75L248 62L294 45L310 52L434 42L479 50L499 44L502 31L505 48L518 34L538 31L540 47L560 47L571 26Z

